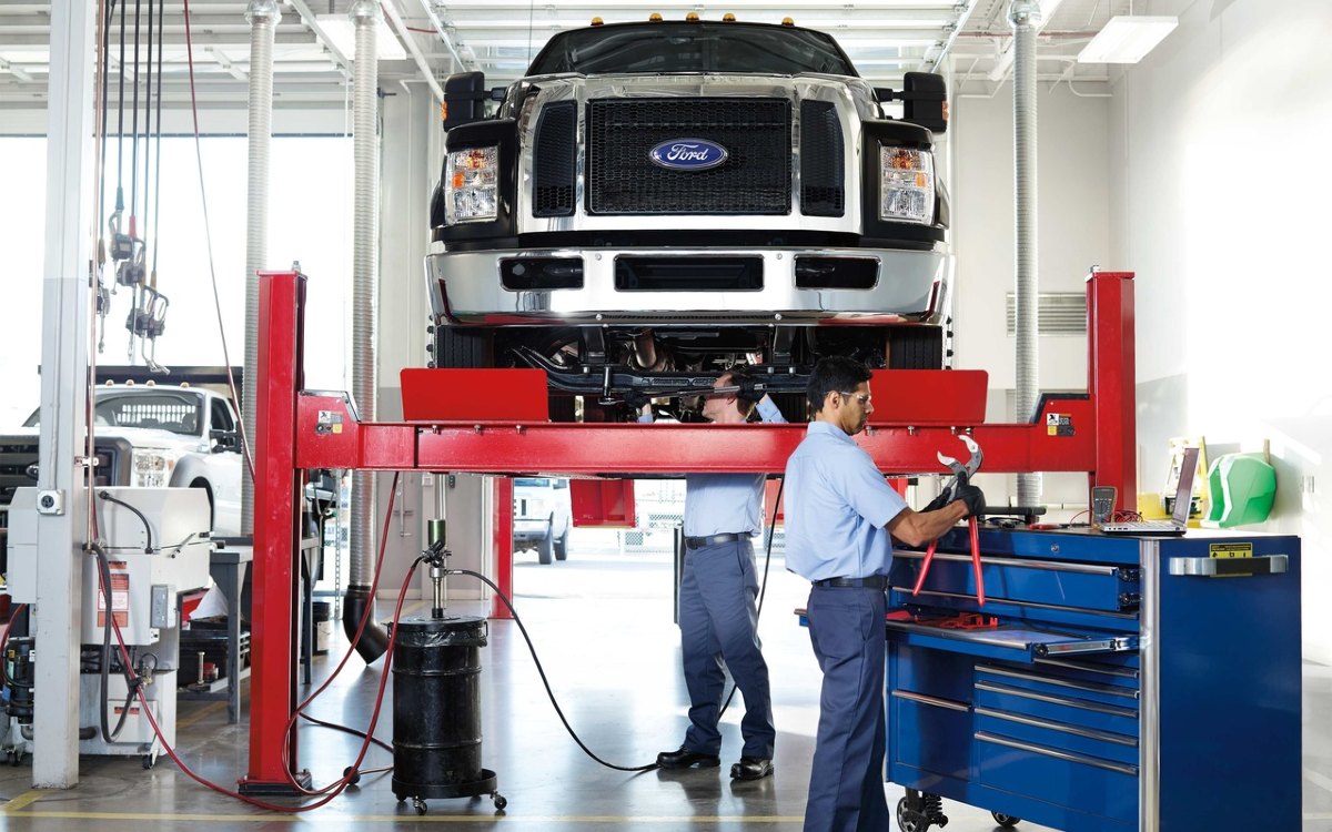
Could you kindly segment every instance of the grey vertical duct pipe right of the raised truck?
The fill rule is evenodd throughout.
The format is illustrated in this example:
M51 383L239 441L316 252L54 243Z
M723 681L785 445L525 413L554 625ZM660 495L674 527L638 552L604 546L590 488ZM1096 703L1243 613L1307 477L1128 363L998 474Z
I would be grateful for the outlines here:
M1038 331L1036 238L1036 29L1040 4L1014 0L1012 24L1012 134L1014 214L1016 238L1015 317L1018 335L1016 417L1027 419L1040 394ZM1040 505L1040 474L1018 474L1018 505Z

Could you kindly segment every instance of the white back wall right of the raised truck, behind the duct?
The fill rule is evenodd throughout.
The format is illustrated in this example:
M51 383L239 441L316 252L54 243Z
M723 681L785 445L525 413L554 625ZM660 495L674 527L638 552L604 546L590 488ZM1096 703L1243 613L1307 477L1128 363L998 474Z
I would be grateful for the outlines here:
M952 105L954 358L958 367L990 373L990 422L1019 421L1012 411L1016 339L1006 333L1006 296L1016 282L1012 121L1011 84L992 97L963 96ZM1110 99L1043 84L1038 121L1039 288L1080 293L1094 265L1132 268L1110 256ZM1044 335L1039 349L1042 390L1086 390L1086 337ZM999 503L1000 495L1016 494L1015 479L994 475L979 482ZM1087 477L1047 474L1042 495L1082 510Z

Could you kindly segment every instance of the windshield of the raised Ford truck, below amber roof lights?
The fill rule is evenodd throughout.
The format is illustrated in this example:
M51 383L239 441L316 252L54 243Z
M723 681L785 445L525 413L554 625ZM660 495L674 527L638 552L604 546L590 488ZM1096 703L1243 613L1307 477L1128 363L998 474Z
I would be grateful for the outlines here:
M743 23L605 25L550 39L529 76L575 72L723 72L856 76L850 59L827 35L791 27Z

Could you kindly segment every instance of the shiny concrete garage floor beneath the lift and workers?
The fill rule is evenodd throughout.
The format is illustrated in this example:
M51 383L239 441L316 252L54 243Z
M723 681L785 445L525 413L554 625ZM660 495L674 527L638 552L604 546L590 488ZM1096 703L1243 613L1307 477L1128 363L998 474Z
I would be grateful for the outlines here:
M762 560L761 560L762 568ZM531 554L515 563L519 615L545 664L565 716L593 752L625 767L650 763L658 751L679 745L686 696L679 678L678 630L671 623L670 559L663 554L619 554L575 548L570 559L538 566ZM481 652L484 765L498 773L507 799L496 815L489 799L430 800L418 817L398 804L389 775L366 775L322 808L300 815L265 812L192 781L170 760L152 771L139 757L81 761L77 788L31 788L31 767L0 767L0 828L136 831L325 828L469 829L799 829L813 735L818 718L818 667L806 631L791 611L805 604L807 584L774 558L761 632L771 667L778 727L777 772L757 783L733 783L730 763L739 753L741 703L723 719L722 767L683 772L622 772L598 765L567 736L534 668L518 628L490 622L490 644ZM456 606L454 612L480 612ZM388 614L380 604L381 615ZM338 639L341 635L338 634ZM326 675L345 650L341 640L316 663ZM1332 829L1332 668L1305 666L1304 832ZM353 659L312 715L365 728L380 682L380 663ZM309 691L305 691L306 694ZM302 694L304 695L304 694ZM392 739L392 694L377 736ZM232 788L248 768L248 732L226 724L221 702L181 703L180 753L200 776ZM354 760L360 740L305 724L301 765L314 784L336 780ZM392 763L372 747L364 768ZM890 805L902 789L887 787ZM280 803L296 805L294 800ZM947 803L948 832L991 832L988 812ZM1023 823L1019 829L1042 832ZM1211 832L1211 831L1209 831Z

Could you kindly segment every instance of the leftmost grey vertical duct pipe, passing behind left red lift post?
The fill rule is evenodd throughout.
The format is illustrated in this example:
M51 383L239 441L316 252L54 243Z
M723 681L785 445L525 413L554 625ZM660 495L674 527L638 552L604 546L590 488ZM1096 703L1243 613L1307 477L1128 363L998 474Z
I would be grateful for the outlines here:
M277 0L250 0L245 9L250 24L249 73L249 198L245 224L245 375L258 373L258 270L268 260L268 146L273 138L273 35L282 21ZM254 435L254 389L242 394L241 433L250 453ZM241 534L254 534L254 482L249 466L241 466Z

